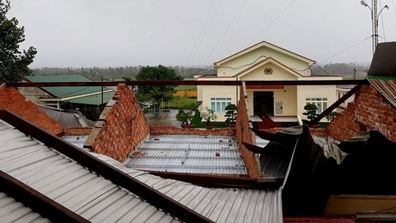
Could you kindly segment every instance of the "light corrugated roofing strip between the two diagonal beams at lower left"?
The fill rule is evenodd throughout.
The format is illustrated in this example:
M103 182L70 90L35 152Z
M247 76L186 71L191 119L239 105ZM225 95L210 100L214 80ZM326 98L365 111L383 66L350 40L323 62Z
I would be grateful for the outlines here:
M174 222L174 217L1 120L0 142L0 170L92 222Z

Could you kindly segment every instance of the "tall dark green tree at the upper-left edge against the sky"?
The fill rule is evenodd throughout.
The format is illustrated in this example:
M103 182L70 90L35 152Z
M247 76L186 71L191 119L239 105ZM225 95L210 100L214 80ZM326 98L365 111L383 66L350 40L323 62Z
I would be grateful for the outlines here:
M15 17L6 17L8 10L10 1L0 0L0 83L22 81L24 76L31 75L28 65L37 53L34 47L23 53L19 51L19 44L25 40L25 29L17 27L19 22Z

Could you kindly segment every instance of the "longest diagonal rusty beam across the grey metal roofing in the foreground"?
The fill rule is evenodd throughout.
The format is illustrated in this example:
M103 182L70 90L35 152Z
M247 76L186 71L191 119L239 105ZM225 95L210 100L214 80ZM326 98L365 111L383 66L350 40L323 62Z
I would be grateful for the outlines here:
M134 179L132 176L129 176L99 158L88 154L83 151L83 149L79 149L73 144L58 138L56 135L35 126L15 113L8 110L0 110L0 119L14 126L26 135L31 135L31 137L36 140L47 144L47 146L55 149L61 154L64 154L77 163L80 163L80 165L87 167L88 170L96 172L116 185L129 190L129 192L132 192L138 197L146 200L152 206L156 206L156 208L160 208L165 212L170 213L170 215L181 219L183 222L213 222L208 219L208 217L205 217L204 215L197 213L195 210L192 210L174 199L163 195L163 193L158 192L158 190L154 190L149 187L149 185Z

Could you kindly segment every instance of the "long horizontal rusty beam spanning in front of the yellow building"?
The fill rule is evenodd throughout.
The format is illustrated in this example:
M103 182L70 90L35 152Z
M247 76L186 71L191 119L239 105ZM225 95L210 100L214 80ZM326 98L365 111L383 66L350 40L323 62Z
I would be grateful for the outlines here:
M154 85L242 85L242 81L97 81L97 82L25 82L6 83L15 87L65 87L65 86L116 86L119 83L134 86ZM367 80L329 80L329 81L245 81L246 85L357 85L368 84Z

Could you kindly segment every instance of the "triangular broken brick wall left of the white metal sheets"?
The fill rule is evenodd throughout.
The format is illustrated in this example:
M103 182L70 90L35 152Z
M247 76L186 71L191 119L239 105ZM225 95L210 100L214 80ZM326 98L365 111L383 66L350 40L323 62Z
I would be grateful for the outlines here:
M119 84L84 147L124 162L149 133L149 124L135 95L125 84Z

